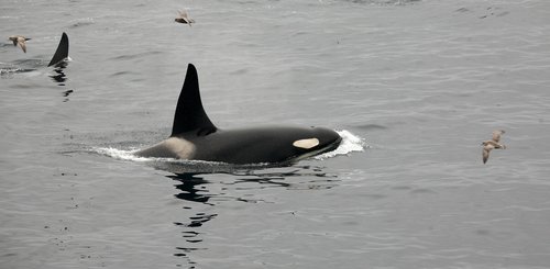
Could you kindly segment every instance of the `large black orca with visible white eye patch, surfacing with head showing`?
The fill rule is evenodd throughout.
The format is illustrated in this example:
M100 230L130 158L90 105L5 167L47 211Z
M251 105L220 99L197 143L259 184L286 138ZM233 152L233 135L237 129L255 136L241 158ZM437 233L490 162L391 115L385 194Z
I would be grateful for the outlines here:
M197 69L187 67L170 136L134 153L140 157L205 160L234 165L292 165L336 149L340 135L326 127L260 126L218 128L208 117L199 92Z

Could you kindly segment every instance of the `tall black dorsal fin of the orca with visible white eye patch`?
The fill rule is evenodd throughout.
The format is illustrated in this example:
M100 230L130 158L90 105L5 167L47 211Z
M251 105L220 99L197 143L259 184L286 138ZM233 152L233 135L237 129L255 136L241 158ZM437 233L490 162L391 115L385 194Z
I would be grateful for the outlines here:
M187 66L187 74L185 75L184 87L177 100L170 136L190 131L197 131L197 135L202 136L213 133L216 130L216 126L208 119L202 108L202 101L200 101L197 69L195 69L193 64L189 64Z

